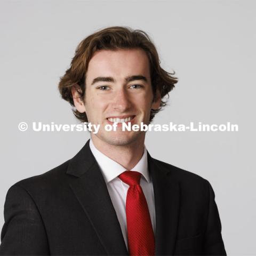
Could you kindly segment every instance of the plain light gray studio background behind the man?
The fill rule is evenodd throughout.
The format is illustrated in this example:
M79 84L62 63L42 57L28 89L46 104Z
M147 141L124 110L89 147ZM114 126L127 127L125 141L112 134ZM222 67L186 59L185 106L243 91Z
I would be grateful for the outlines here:
M20 132L77 123L57 85L75 47L106 26L145 30L180 78L154 123L231 122L239 132L150 132L162 161L209 180L229 255L255 245L255 1L1 1L0 226L7 189L73 157L85 132Z

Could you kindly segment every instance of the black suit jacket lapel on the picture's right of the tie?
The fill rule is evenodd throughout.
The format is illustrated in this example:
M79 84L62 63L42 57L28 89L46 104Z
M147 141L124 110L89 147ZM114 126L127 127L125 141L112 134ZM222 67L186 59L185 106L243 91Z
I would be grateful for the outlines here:
M161 162L148 154L156 211L156 255L173 255L179 221L179 182Z

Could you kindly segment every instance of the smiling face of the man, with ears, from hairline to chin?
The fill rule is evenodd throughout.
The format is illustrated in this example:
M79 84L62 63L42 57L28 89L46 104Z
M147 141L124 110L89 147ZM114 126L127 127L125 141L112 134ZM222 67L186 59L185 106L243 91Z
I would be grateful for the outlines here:
M149 124L151 108L159 108L161 98L153 102L146 53L141 49L96 52L85 84L85 99L75 106L79 112L85 111L90 123L100 124L99 132L91 133L92 139L116 146L143 143L145 132L122 131L122 122ZM105 125L114 122L118 122L116 131L106 131Z

